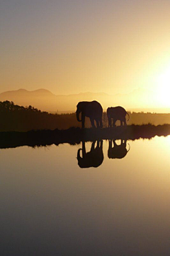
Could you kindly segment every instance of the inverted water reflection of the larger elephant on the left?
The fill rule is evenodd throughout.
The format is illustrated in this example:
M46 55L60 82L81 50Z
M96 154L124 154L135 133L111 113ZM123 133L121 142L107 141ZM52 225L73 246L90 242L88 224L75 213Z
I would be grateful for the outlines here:
M80 168L98 167L103 163L103 141L97 141L91 144L91 151L86 153L85 142L82 142L82 149L77 151L77 160ZM80 156L82 151L82 156Z

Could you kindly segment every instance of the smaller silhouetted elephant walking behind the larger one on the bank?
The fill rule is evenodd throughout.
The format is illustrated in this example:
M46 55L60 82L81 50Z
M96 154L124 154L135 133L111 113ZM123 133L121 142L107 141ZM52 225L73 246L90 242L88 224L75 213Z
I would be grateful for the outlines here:
M113 126L115 126L115 122L117 120L120 120L120 125L123 125L123 122L126 125L126 119L125 119L126 114L128 114L128 112L126 112L123 107L108 107L107 109L108 127L112 127L112 119L113 119Z

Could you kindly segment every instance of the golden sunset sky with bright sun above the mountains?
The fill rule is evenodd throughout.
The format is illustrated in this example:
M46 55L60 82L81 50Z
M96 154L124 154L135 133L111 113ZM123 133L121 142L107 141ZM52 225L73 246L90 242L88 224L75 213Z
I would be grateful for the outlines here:
M0 92L169 92L169 0L0 0L0 10Z

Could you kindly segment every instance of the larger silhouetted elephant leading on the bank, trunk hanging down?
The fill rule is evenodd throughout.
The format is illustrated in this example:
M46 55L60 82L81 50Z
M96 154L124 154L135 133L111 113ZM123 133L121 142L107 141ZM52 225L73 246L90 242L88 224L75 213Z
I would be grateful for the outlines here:
M101 104L96 100L92 102L79 102L77 104L77 120L81 122L82 128L84 128L85 117L89 117L91 120L92 127L95 127L94 120L96 120L97 127L103 127L102 125L102 114L103 108ZM81 113L81 119L79 114Z

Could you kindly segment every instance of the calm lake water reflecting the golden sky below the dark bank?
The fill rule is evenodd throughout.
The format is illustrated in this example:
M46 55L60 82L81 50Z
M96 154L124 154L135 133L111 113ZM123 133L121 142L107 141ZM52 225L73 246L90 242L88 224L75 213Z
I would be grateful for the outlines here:
M1 255L170 255L170 137L108 145L1 149Z

